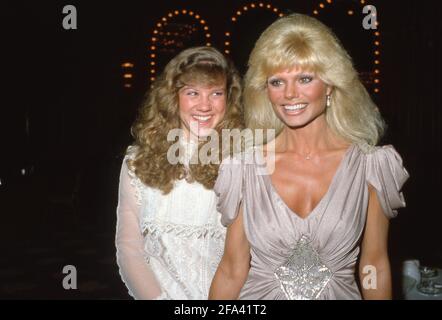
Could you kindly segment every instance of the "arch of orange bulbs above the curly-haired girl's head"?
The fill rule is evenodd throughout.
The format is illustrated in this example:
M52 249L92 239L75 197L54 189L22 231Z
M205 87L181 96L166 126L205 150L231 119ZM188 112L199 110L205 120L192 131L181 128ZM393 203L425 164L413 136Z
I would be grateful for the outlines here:
M206 46L210 47L212 45L210 41L212 35L209 32L209 26L207 25L206 20L203 19L198 13L187 9L170 11L166 16L162 17L159 21L157 21L152 31L152 36L150 39L150 46L149 46L149 78L151 82L155 81L155 76L157 71L155 67L156 67L156 58L157 58L156 49L159 40L158 39L159 33L163 29L163 27L167 25L169 21L171 21L173 18L179 15L184 15L194 18L197 21L197 23L199 23L202 26L204 30L204 34L207 39Z

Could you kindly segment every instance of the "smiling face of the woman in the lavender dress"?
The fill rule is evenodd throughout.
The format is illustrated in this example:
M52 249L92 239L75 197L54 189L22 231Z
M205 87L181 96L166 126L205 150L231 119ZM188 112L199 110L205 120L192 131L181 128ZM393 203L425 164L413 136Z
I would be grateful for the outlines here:
M267 95L273 109L291 128L303 127L324 115L331 88L313 72L287 69L267 79Z

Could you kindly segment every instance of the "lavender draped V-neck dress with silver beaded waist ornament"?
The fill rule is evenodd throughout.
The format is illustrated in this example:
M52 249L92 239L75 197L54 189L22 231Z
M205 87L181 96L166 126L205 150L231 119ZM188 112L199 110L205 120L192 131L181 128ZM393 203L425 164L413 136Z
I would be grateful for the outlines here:
M328 191L301 218L282 201L262 163L227 158L215 184L221 222L228 226L243 205L251 268L240 299L361 299L355 265L369 200L377 192L388 218L405 206L408 178L392 146L364 153L351 145ZM261 156L262 158L262 156Z

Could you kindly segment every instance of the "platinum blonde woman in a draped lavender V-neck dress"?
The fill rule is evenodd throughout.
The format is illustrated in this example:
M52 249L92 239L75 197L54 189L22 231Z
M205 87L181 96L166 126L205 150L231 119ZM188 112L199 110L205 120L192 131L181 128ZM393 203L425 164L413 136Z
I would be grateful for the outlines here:
M210 298L390 299L388 224L408 174L376 146L384 122L336 36L309 16L277 20L243 98L247 127L276 130L274 169L269 144L255 163L221 164L228 230Z

